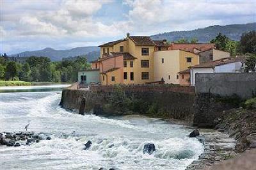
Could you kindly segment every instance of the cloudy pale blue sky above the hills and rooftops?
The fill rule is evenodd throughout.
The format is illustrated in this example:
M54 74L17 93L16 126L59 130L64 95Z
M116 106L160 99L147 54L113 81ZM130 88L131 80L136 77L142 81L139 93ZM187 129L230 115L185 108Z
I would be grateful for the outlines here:
M0 0L0 53L256 22L256 0Z

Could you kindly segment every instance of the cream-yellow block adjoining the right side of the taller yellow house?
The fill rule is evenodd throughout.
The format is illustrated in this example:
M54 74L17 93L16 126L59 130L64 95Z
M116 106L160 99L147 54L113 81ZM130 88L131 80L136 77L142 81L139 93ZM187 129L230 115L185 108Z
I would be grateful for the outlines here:
M185 50L164 50L154 52L154 81L180 84L179 72L199 64L199 56Z

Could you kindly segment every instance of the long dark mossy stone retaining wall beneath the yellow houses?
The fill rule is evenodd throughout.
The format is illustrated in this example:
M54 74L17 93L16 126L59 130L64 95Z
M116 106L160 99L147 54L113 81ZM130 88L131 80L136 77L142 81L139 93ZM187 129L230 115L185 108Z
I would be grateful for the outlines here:
M131 89L131 88L129 88ZM137 87L138 89L138 87ZM63 89L60 105L79 114L97 115L144 114L156 118L192 121L195 93L133 91L113 86L111 91Z

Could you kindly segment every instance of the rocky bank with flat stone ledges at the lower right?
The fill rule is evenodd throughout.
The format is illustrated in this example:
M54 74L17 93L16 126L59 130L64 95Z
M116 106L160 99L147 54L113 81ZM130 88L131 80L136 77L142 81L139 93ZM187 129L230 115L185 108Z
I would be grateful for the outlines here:
M193 161L186 169L221 169L221 167L243 167L239 160L240 153L256 148L256 111L246 109L230 109L223 111L223 116L215 120L215 130L200 129L198 140L204 144L204 153ZM248 151L242 158L248 158L250 166L256 158ZM255 150L254 152L255 153ZM228 160L228 161L227 161ZM226 163L227 162L227 163ZM220 164L220 166L218 166ZM244 161L244 169L246 161Z

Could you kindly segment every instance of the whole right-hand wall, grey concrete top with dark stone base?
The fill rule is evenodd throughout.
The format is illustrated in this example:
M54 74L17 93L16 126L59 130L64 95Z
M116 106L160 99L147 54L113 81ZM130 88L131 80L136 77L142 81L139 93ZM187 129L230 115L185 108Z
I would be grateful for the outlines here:
M193 125L214 127L228 109L256 95L256 73L196 74Z

